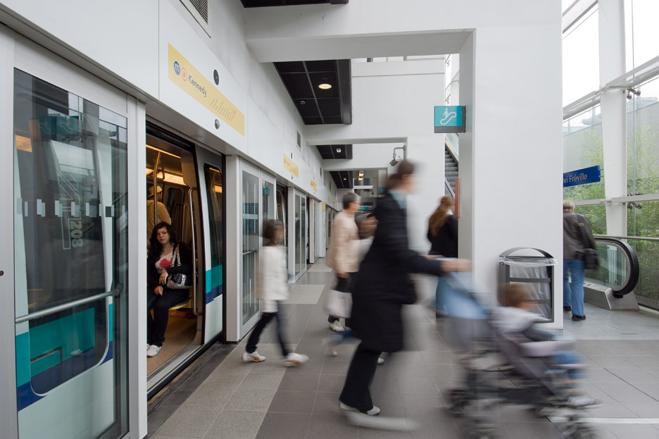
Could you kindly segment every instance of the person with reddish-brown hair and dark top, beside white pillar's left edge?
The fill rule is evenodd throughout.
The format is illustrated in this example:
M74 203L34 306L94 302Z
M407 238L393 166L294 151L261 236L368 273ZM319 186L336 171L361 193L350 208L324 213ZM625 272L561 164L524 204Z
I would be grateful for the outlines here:
M456 207L453 197L445 195L437 210L430 216L428 221L428 240L430 241L430 254L445 258L458 257L458 218L449 213ZM448 285L446 280L439 276L437 278L437 290L435 290L435 316L444 316L444 292Z

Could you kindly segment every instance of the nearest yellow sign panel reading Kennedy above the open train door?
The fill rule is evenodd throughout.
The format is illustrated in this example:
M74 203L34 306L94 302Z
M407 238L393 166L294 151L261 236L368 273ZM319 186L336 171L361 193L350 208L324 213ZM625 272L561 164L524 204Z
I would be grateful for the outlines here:
M168 78L199 104L211 110L231 128L245 135L245 115L224 94L211 84L187 59L169 46Z

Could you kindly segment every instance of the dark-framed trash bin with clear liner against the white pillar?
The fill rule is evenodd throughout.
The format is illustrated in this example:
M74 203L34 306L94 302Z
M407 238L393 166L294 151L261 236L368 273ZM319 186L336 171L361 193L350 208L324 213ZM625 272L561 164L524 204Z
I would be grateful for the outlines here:
M517 254L515 254L517 253ZM499 303L503 303L503 286L524 283L531 291L531 300L537 303L534 312L541 321L553 319L554 266L556 259L544 250L531 247L515 247L499 255Z

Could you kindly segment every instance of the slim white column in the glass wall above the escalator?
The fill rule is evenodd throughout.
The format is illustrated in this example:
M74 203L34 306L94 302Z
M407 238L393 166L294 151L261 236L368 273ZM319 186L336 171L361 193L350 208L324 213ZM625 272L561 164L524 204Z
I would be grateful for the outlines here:
M625 11L620 0L600 0L599 67L600 85L625 73ZM600 97L602 111L602 143L604 154L605 198L627 194L627 135L624 90L610 90ZM606 205L606 233L627 235L627 206Z

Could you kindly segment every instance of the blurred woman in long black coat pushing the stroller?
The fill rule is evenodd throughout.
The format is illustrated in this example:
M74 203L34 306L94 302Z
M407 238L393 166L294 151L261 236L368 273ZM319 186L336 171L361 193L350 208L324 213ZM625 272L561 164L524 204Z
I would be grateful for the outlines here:
M468 261L434 261L408 247L406 195L414 185L414 165L403 160L387 181L387 194L377 200L375 239L366 254L353 288L351 327L362 340L351 361L339 396L341 409L379 414L370 396L370 383L382 352L403 349L403 304L416 297L408 287L410 273L441 276L468 269Z

